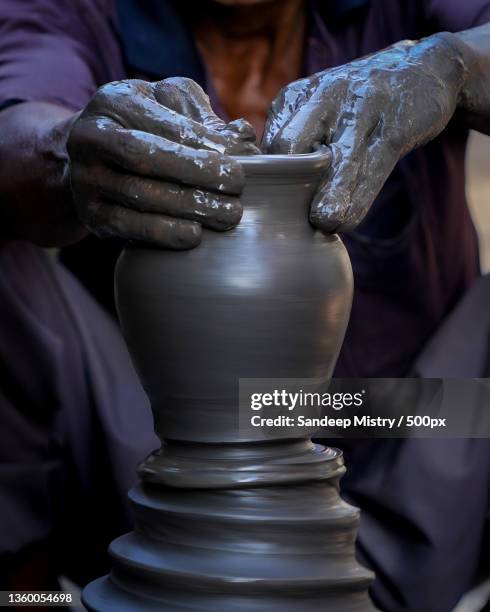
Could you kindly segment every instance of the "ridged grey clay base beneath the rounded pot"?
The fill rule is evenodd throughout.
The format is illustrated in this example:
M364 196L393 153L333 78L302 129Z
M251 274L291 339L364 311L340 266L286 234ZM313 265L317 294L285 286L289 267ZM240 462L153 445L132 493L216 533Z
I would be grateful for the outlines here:
M298 451L298 441L289 444L296 444ZM249 470L245 459L237 458L242 471L252 477L249 483L228 483L226 489L215 487L216 459L209 466L201 462L201 487L211 488L155 484L165 480L169 468L165 453L153 457L150 464L155 470L160 465L161 474L153 472L153 482L143 482L130 492L135 531L111 544L113 570L84 590L87 608L100 612L374 610L367 593L372 575L355 559L359 512L338 492L344 472L340 452L306 441L303 452L296 454L287 443L276 446L275 454L270 451L275 446L268 445L269 456L262 455L261 469L257 458L250 461ZM291 473L298 475L301 466L310 466L303 479L296 484L261 484L264 473L277 475L273 469L281 461L277 452L287 452L289 464L296 457ZM233 454L240 456L239 449ZM175 452L171 455L178 468ZM189 469L188 449L184 455ZM317 468L322 465L321 478L314 471L316 479L305 481L312 460ZM148 460L140 473L148 475L147 465ZM222 465L226 473L226 462ZM236 465L228 467L236 473Z

